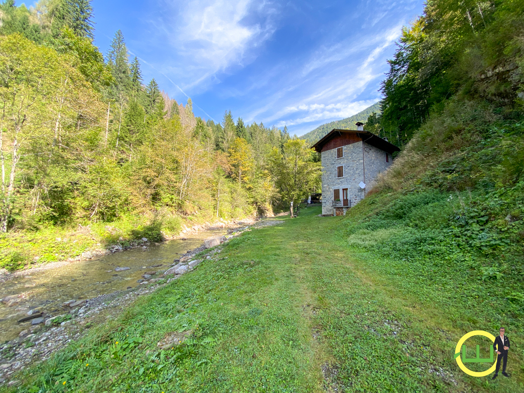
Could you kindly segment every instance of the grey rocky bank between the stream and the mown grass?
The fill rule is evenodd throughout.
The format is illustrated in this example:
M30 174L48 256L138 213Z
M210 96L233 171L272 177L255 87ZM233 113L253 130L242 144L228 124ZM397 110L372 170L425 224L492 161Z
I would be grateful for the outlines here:
M16 378L12 379L12 377L17 371L32 362L48 359L70 341L78 340L91 326L116 318L137 297L167 285L170 281L196 268L203 261L213 260L221 252L221 244L234 236L251 228L280 223L282 221L277 220L224 222L224 228L226 225L235 225L234 229L230 228L227 231L227 236L206 239L202 246L188 250L188 253L181 258L175 259L167 270L146 271L143 281L136 288L103 294L87 300L71 299L62 304L63 312L56 315L46 315L39 313L38 310L31 310L31 315L28 315L25 321L31 325L22 331L17 339L0 346L0 383L16 384ZM198 230L200 228L188 228L184 234ZM206 249L209 251L205 253ZM197 254L198 258L195 257Z

